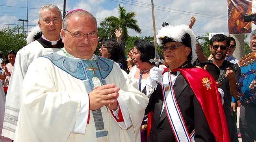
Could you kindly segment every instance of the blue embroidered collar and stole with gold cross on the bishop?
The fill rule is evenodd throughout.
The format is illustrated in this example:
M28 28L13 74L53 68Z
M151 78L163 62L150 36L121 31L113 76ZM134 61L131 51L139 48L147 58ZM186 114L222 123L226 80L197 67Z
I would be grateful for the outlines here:
M96 56L97 58L95 60L74 59L59 55L56 52L44 55L43 57L50 59L50 61L52 61L52 63L61 70L82 80L87 93L90 93L95 86L102 86L106 84L104 79L111 72L114 63L110 59L101 58L99 56ZM97 138L107 136L108 131L98 131L104 130L104 123L100 109L93 111L93 118L95 121Z

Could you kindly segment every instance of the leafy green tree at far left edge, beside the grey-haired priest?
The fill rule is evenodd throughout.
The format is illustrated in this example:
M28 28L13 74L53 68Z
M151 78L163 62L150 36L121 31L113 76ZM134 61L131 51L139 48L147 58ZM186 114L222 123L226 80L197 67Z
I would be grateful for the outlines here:
M0 31L0 50L3 52L5 58L7 58L8 50L15 50L18 52L22 47L26 46L26 34L19 32L22 29L19 25L15 27L3 27Z

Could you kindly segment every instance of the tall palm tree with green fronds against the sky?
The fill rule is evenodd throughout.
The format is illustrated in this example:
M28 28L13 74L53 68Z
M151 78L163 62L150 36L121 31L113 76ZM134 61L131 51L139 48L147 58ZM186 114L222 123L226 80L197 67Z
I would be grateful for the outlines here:
M119 17L108 16L105 18L105 21L110 24L111 37L115 35L114 33L115 29L122 30L122 46L125 51L124 41L128 39L128 29L132 29L139 34L141 33L141 29L139 28L139 25L137 25L138 21L134 19L136 16L135 12L126 13L126 10L120 4L118 6L118 9L119 9Z

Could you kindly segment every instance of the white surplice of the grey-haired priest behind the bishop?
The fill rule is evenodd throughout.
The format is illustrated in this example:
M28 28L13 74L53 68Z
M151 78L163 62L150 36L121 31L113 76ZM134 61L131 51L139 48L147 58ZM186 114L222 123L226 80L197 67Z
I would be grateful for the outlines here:
M44 48L38 41L33 41L17 52L15 65L11 74L13 81L9 84L6 97L3 136L12 140L14 139L20 111L22 81L28 70L28 66L39 56L56 51L59 51L59 49Z

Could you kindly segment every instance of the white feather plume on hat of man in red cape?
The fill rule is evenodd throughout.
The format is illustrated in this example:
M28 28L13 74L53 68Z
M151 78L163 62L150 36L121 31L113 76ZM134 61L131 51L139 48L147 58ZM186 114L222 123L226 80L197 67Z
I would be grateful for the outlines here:
M176 26L167 25L165 27L162 27L158 31L158 35L156 36L156 41L159 46L163 46L162 40L160 40L159 37L167 36L169 38L173 38L173 40L176 42L182 42L182 38L185 35L185 33L188 33L191 38L191 47L192 47L191 63L193 63L197 59L197 54L195 52L197 39L193 31L187 25L184 25L184 24L176 25Z

